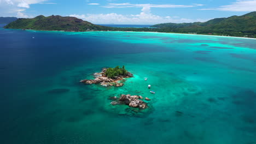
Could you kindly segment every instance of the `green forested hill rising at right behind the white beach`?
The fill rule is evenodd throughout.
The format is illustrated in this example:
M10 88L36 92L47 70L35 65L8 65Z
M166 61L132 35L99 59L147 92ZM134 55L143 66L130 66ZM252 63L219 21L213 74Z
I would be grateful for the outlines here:
M161 32L197 33L214 35L256 36L256 11L242 16L212 19L207 22L161 23L152 27Z

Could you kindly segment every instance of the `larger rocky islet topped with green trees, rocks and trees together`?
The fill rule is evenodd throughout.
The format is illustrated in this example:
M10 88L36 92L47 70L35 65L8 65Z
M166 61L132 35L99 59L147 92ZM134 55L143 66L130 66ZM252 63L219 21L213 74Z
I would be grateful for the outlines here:
M123 65L122 68L119 66L115 68L102 68L100 73L94 73L94 80L81 80L80 82L93 84L101 83L102 86L115 86L121 87L124 83L119 81L124 80L124 78L133 77L133 75L125 69Z

